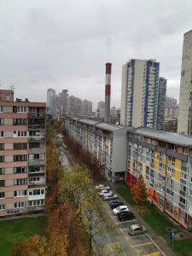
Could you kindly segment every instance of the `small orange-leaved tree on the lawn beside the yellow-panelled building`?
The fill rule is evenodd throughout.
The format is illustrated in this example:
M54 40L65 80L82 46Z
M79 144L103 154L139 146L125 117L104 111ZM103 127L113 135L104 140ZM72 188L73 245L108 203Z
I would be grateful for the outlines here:
M133 201L139 206L142 206L144 202L147 201L148 192L142 176L139 177L137 182L131 187L131 195Z

